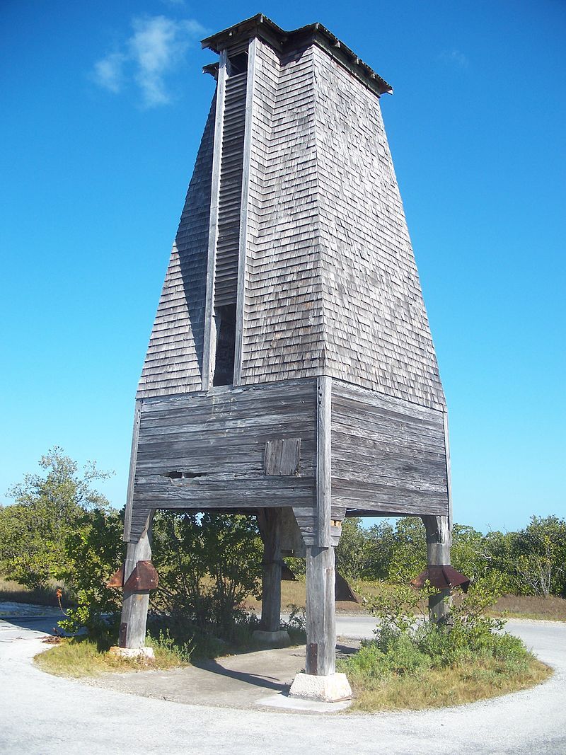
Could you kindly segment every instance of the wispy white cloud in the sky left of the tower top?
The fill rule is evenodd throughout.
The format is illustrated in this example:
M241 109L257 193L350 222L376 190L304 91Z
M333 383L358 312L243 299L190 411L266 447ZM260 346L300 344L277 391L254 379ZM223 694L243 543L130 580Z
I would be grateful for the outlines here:
M177 21L165 16L134 18L132 29L121 49L94 64L94 81L113 94L133 81L140 88L143 106L166 105L171 102L167 75L206 29L194 19Z

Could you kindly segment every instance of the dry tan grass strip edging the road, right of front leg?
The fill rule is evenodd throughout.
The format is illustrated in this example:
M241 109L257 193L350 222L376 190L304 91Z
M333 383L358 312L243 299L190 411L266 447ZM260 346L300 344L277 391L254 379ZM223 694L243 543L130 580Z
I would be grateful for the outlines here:
M505 673L498 661L469 661L465 665L431 669L420 676L391 676L371 686L350 680L355 695L352 712L423 710L463 705L527 689L548 679L552 669L531 658L528 669Z

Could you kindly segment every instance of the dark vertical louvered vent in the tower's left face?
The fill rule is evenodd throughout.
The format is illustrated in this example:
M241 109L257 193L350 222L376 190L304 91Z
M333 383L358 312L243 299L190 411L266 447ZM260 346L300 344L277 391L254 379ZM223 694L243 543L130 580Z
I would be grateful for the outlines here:
M244 152L247 72L233 73L226 80L218 238L214 274L214 307L235 304L238 288L241 174Z

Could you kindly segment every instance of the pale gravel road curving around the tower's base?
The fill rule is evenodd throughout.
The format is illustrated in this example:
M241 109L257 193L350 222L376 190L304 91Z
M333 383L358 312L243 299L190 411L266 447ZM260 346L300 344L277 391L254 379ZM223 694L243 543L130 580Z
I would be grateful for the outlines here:
M24 628L23 624L26 624ZM323 716L159 701L39 671L41 621L0 621L0 753L388 753L566 755L566 624L509 621L552 665L534 689L426 712ZM338 619L343 635L371 618Z

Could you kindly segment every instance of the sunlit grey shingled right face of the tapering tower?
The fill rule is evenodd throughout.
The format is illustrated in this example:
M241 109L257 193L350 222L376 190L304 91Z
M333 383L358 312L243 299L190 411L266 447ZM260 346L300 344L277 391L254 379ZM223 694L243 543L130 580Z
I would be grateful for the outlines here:
M379 100L318 47L313 63L328 374L444 407Z

